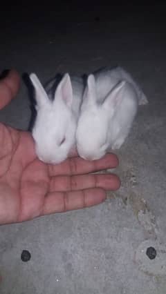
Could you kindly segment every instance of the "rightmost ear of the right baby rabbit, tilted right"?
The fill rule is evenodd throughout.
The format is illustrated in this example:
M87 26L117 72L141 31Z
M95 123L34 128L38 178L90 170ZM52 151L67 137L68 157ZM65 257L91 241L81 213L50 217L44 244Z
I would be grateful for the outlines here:
M116 110L120 102L123 98L123 92L124 92L124 84L125 81L120 81L118 85L116 85L111 92L107 95L106 99L104 100L103 106L107 109Z

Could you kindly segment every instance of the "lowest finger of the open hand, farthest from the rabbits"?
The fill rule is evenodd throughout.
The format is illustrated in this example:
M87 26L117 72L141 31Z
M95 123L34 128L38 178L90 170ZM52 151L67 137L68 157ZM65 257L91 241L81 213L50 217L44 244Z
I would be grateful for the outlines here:
M92 188L73 192L49 193L44 201L42 215L63 213L67 210L86 208L100 204L106 199L102 188Z

